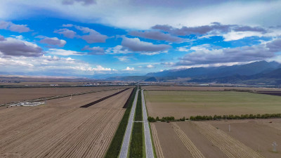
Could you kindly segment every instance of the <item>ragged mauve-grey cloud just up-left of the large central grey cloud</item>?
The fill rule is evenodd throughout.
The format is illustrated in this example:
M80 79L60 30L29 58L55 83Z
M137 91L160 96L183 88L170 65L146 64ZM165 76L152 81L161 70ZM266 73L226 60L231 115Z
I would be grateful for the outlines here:
M81 27L81 26L75 26L76 29L79 29L84 34L80 38L84 39L87 43L93 44L93 43L105 43L105 40L108 39L106 35L100 34L99 32L96 32L94 29L90 29L89 27Z

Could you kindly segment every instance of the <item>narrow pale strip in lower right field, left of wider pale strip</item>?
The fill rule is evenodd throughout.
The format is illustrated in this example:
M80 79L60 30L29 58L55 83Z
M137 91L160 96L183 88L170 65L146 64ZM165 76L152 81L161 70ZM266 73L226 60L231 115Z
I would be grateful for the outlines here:
M202 152L192 143L190 138L185 135L185 133L181 130L181 128L175 123L171 123L171 128L174 129L176 134L178 135L178 138L180 138L181 142L185 145L186 148L188 148L188 151L194 158L205 158Z

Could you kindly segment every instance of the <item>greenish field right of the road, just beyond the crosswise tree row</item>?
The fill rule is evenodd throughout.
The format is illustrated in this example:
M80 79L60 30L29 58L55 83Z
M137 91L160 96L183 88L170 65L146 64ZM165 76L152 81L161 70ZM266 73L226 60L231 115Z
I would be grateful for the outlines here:
M237 91L145 91L150 117L189 118L224 114L273 114L281 97Z

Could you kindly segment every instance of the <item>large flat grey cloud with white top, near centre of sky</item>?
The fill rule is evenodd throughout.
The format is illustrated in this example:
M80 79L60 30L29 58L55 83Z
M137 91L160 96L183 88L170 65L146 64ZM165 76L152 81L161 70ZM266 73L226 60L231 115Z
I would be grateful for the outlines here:
M122 46L129 48L131 51L138 52L155 52L155 51L166 51L171 48L171 46L166 44L152 44L150 42L141 41L138 38L127 38L123 37Z

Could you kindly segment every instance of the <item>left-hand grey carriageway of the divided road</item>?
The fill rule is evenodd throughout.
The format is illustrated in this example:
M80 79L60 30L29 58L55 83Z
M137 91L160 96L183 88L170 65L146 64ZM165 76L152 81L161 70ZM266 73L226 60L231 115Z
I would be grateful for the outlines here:
M136 101L138 100L138 90L136 91L135 99L133 100L133 106L131 107L131 113L129 117L129 121L126 128L126 133L124 136L121 152L119 154L119 158L126 158L129 151L129 143L131 138L131 129L133 127L133 117L135 116L136 111Z

